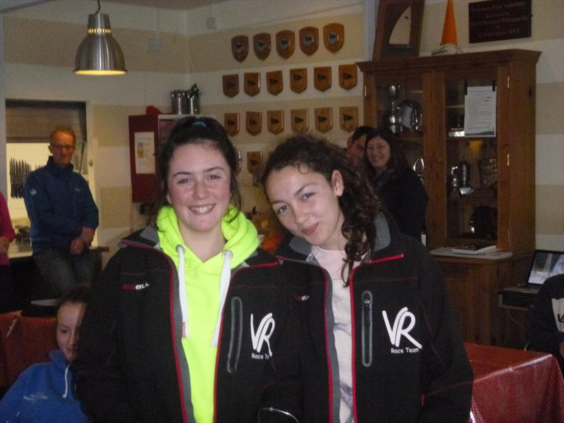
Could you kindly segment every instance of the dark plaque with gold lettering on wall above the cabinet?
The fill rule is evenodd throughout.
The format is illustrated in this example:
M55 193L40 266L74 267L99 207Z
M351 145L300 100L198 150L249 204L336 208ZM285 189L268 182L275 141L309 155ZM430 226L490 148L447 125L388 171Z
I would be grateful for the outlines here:
M468 4L470 43L531 36L531 0Z

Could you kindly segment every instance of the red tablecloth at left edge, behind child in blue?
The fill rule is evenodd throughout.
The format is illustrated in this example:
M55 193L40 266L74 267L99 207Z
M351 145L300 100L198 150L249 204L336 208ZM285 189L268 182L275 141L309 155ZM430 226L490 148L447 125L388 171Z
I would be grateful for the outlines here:
M0 388L13 384L31 364L49 361L49 351L56 348L54 317L0 314Z

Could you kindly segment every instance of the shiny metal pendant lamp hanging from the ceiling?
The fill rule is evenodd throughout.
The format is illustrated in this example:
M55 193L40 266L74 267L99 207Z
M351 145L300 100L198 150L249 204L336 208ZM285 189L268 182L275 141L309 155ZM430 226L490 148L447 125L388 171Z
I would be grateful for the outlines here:
M110 18L100 13L88 15L88 30L75 56L75 73L79 75L123 75L125 59L118 42L111 36Z

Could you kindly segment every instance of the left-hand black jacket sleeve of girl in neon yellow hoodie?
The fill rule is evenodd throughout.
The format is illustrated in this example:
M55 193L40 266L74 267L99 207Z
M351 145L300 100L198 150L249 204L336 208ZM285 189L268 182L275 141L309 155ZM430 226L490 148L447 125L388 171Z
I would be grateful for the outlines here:
M133 422L116 343L120 254L112 257L88 302L71 369L85 413L99 422Z

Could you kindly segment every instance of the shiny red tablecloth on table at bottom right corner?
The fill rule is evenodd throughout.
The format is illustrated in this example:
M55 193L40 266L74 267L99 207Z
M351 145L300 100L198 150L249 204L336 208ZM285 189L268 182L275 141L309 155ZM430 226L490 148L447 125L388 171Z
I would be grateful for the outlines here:
M472 423L564 422L564 380L552 355L465 344L474 370Z

